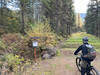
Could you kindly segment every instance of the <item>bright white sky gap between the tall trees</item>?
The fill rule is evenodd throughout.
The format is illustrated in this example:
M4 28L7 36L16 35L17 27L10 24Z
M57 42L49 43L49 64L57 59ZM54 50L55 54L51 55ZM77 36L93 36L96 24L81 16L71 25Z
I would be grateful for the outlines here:
M73 0L76 13L86 13L90 0Z

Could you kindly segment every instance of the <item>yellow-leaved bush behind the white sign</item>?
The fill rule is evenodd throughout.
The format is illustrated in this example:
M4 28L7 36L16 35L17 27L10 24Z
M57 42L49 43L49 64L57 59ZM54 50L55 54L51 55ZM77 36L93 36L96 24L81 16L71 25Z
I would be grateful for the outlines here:
M39 37L39 46L55 46L57 44L56 35L51 31L48 22L37 23L26 33L29 37Z

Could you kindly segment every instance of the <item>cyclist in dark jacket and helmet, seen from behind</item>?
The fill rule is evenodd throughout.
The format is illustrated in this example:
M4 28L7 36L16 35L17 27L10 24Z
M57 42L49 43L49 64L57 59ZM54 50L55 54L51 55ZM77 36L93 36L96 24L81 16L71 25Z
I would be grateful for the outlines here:
M87 66L87 63L88 64L91 64L91 62L93 61L93 59L89 59L87 56L88 56L88 50L87 50L87 47L86 45L89 45L88 43L88 37L84 37L83 39L83 45L81 45L75 52L74 52L74 55L77 55L78 52L82 52L82 65L81 65L81 75L85 75L85 70L86 70L86 66ZM90 73L88 73L87 75L91 75Z

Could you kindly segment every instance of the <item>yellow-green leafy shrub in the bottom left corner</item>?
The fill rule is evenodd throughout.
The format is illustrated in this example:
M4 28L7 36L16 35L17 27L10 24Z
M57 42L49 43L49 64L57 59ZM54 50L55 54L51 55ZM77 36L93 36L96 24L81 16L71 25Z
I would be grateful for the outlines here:
M17 71L18 65L21 65L21 62L24 61L24 58L20 58L18 55L6 54L0 58L1 67L6 67L12 71ZM7 63L6 65L4 65Z

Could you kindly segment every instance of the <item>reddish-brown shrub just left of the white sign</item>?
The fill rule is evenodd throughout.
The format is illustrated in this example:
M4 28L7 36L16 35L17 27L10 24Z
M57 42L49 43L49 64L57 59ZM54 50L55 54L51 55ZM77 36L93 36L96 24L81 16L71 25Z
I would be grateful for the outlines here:
M24 58L33 58L33 49L28 46L29 38L21 34L4 34L2 35L3 44L6 45L4 53L13 53Z

